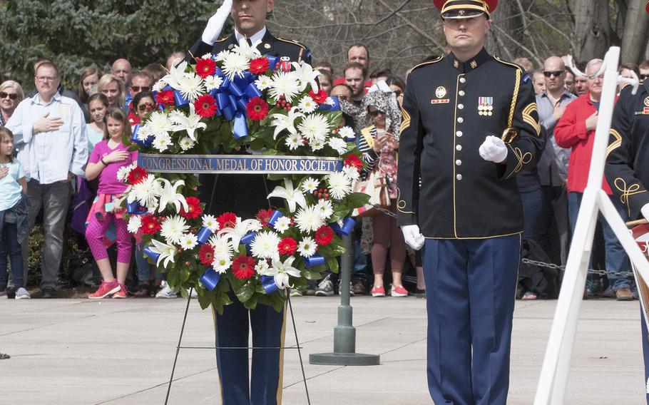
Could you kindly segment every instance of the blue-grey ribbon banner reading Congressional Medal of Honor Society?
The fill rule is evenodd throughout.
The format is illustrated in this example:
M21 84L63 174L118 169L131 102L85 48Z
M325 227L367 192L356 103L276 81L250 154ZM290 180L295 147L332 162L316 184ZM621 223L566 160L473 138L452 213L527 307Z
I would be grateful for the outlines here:
M285 155L158 155L140 153L148 173L320 174L339 172L342 158Z

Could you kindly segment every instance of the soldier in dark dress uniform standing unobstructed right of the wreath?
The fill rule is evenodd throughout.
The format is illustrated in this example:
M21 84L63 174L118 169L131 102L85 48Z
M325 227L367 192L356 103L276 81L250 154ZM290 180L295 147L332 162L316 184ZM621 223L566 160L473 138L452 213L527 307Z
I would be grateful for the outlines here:
M435 404L506 404L523 212L545 140L531 78L484 49L496 0L434 0L451 53L408 77L398 220L424 247Z

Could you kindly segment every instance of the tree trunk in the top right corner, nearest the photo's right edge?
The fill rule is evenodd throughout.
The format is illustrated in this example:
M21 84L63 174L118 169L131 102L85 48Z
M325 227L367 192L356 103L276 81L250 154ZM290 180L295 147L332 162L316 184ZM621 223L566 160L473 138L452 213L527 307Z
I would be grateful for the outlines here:
M645 13L645 0L629 0L622 37L622 63L640 63L647 47L649 16Z

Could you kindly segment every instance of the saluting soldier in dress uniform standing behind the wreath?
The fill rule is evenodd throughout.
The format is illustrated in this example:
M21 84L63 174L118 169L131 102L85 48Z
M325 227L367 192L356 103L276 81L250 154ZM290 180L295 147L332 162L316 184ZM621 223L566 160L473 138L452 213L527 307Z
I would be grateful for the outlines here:
M195 63L205 53L216 54L232 49L242 41L257 43L262 55L277 56L293 62L311 63L311 51L297 41L279 39L265 26L266 14L272 11L275 0L225 0L210 18L201 39L188 52L186 60ZM230 36L218 39L228 16L235 22ZM219 151L216 150L215 153ZM238 150L243 154L246 150ZM260 209L270 208L267 195L274 185L265 175L200 175L200 200L206 203L206 212L220 215L235 212L242 219L255 217ZM231 294L232 304L215 314L217 366L221 383L221 403L232 405L276 405L282 403L281 349L253 349L252 375L248 373L249 334L252 329L252 347L279 348L284 346L285 314L266 305L246 309ZM250 319L250 320L249 320Z

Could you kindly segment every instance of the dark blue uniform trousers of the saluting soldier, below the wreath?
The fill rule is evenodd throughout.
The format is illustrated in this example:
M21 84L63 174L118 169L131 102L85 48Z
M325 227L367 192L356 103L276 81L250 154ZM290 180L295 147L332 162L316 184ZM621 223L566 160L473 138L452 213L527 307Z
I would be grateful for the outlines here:
M282 364L286 311L270 306L246 309L233 295L232 304L215 315L216 362L221 383L223 405L282 404ZM248 321L250 317L250 322ZM248 372L250 347L249 325L252 327L252 371ZM242 349L219 349L241 347Z

